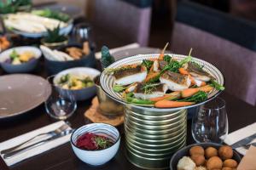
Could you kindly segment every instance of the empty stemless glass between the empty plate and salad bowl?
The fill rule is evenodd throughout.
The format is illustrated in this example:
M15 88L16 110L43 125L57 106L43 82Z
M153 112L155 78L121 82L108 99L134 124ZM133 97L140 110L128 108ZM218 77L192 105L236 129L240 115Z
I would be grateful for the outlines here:
M44 102L45 109L49 116L58 120L65 120L73 115L77 103L71 90L55 85L54 77L47 78L49 87L46 88L45 94L49 97Z

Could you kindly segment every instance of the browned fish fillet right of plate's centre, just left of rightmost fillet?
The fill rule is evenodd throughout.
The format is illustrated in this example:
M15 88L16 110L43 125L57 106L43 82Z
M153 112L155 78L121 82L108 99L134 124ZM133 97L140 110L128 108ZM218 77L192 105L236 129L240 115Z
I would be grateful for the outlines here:
M166 71L160 77L160 82L168 86L172 91L180 91L189 88L191 80L188 76L181 75L176 72Z

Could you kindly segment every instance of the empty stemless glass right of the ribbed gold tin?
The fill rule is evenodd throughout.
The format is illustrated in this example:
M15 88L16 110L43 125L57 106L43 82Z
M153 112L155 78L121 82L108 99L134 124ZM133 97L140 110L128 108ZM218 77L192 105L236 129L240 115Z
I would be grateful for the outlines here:
M228 117L224 99L215 98L201 105L192 119L191 130L197 143L223 143L228 133Z

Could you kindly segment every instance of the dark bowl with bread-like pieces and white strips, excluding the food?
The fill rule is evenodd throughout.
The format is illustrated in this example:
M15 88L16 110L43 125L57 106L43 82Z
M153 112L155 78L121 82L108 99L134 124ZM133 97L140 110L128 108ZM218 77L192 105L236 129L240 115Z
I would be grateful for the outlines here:
M69 47L78 47L82 48L78 44L68 44L67 46L63 46L58 48L60 51L65 51L65 48ZM94 48L90 48L90 54L84 55L81 59L71 60L71 61L53 61L49 59L45 59L45 66L49 74L57 74L60 71L64 71L73 67L94 67L96 65L95 59L95 50Z

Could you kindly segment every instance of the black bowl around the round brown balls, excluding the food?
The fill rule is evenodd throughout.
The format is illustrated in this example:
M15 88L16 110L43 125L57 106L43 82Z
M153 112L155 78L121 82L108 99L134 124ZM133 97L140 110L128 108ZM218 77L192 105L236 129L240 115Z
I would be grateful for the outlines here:
M218 148L224 144L216 144L216 143L200 143L200 144L190 144L186 147L184 147L181 150L178 150L173 156L170 161L170 170L177 170L177 162L183 157L183 156L189 156L189 149L193 146L200 145L204 149L207 149L207 147L212 146L218 150ZM238 154L236 150L233 150L234 155L233 158L238 163L241 161L241 156Z

